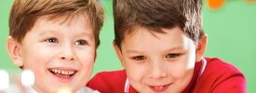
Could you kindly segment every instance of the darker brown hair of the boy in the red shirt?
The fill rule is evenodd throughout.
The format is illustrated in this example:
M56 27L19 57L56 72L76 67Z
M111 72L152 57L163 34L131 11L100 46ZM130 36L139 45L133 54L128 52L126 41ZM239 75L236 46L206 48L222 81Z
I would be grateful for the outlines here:
M204 34L201 0L114 0L115 44L121 47L126 33L138 27L163 33L180 27L195 44Z

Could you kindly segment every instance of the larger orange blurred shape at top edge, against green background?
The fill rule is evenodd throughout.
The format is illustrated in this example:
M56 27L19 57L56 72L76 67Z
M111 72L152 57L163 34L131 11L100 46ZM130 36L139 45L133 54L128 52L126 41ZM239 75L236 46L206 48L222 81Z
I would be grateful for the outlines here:
M225 3L225 0L208 0L208 6L210 9L219 9Z

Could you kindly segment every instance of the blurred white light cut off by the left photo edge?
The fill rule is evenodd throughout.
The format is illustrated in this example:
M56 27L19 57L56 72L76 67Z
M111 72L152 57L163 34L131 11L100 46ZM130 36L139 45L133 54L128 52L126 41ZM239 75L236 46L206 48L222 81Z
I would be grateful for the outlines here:
M7 90L9 87L9 75L7 71L0 70L0 90Z

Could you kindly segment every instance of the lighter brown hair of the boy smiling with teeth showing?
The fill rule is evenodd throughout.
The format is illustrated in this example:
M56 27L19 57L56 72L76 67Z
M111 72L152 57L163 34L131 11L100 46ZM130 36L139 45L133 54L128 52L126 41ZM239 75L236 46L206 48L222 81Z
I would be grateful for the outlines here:
M96 46L99 46L103 10L96 0L15 0L9 15L9 35L21 43L39 17L49 16L49 20L53 20L81 12L88 16Z

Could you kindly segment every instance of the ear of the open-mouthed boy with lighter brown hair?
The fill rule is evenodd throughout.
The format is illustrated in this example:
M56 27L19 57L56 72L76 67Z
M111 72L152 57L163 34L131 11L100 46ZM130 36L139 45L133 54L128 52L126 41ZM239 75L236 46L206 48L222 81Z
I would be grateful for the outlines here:
M9 36L7 38L7 52L8 52L8 55L9 55L10 59L12 60L12 62L16 66L19 66L19 67L23 66L23 60L22 60L21 49L20 48L21 48L20 43L18 41L16 41L11 36Z

